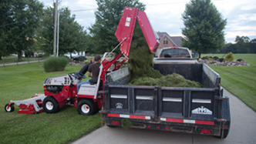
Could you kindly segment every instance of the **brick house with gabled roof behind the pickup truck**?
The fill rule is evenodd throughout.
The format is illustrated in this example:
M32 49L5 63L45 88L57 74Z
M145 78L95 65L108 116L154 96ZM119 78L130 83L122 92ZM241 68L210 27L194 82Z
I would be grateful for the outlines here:
M170 36L167 34L167 32L157 32L157 36L159 38L159 46L157 48L157 53L156 55L159 54L159 52L166 47L181 47L181 41L182 41L182 36Z

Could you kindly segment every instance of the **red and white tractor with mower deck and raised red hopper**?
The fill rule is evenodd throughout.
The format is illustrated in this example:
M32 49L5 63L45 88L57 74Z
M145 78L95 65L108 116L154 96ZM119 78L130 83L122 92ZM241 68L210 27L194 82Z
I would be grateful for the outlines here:
M113 52L106 52L103 55L98 79L90 79L89 83L85 83L78 88L81 80L86 78L85 74L92 62L87 63L79 72L45 79L43 85L44 95L35 95L32 99L23 101L11 101L5 105L5 111L13 112L13 104L15 103L20 107L19 113L38 113L43 110L47 113L56 113L65 105L76 106L80 115L93 115L96 113L103 105L104 94L100 94L99 91L104 90L103 85L106 82L108 73L120 69L123 62L126 62L129 58L130 44L136 21L140 24L150 52L156 52L159 42L154 35L146 13L139 11L137 8L126 7L115 34L120 42L121 53L115 56ZM120 57L123 57L123 59L120 60ZM123 75L122 72L128 73L126 71L127 69L117 73L115 75L116 79L118 79L119 74Z

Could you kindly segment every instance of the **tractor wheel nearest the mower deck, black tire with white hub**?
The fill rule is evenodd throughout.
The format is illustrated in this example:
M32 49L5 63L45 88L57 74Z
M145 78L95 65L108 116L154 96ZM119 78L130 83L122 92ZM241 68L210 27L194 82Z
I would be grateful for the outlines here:
M42 102L42 108L46 113L59 112L59 103L52 96L47 96Z

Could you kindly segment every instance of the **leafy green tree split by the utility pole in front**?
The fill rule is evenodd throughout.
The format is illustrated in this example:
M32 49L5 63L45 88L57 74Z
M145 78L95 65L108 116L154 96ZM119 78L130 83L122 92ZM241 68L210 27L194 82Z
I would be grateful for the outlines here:
M85 51L87 46L86 31L76 21L76 15L70 16L69 8L61 8L59 12L59 55L70 52ZM53 52L53 28L55 8L45 9L45 17L40 22L38 30L39 49L47 55Z

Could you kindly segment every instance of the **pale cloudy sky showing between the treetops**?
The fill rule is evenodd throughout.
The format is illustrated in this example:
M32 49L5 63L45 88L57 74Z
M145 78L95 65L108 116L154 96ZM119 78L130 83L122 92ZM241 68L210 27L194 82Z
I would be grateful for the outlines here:
M56 0L39 0L45 7ZM95 0L59 0L61 7L69 7L76 15L79 25L88 28L95 23ZM140 0L146 4L147 18L156 32L167 32L170 36L182 36L184 23L181 18L190 0ZM225 41L234 42L237 35L256 39L255 0L211 0L223 18L227 18L224 29Z

